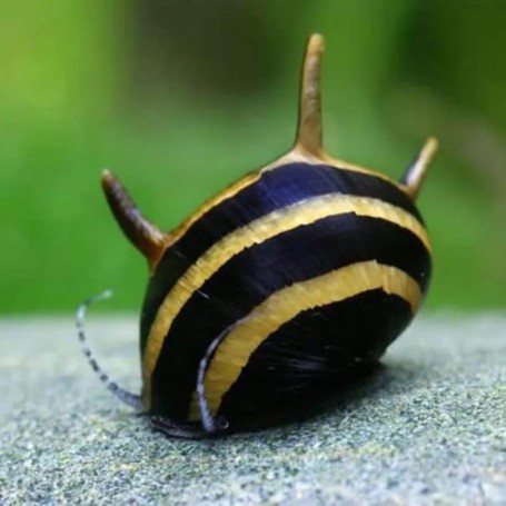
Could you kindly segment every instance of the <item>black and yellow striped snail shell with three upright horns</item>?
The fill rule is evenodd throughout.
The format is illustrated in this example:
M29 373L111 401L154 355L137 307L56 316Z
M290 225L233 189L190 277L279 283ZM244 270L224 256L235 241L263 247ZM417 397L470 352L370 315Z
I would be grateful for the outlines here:
M150 265L142 404L167 434L247 429L310 409L379 359L427 290L430 244L414 199L436 140L400 182L328 156L323 50L312 36L294 148L175 231L148 222L103 175L117 220Z

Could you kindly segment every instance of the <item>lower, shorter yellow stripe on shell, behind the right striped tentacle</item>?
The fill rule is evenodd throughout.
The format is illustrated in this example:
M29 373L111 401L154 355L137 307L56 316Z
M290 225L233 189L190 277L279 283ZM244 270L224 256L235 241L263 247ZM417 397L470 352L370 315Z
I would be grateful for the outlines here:
M216 415L224 395L238 379L252 353L272 333L298 314L348 299L366 290L383 289L405 299L416 312L421 291L403 270L375 260L353 264L323 276L282 288L257 306L218 346L205 376L205 395ZM190 419L199 419L198 398L194 393Z

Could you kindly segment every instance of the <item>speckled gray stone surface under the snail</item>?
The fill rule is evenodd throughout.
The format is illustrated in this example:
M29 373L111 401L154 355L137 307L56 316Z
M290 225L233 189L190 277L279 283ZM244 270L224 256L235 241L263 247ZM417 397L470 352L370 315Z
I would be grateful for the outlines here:
M92 318L139 387L136 320ZM103 390L68 319L0 320L0 504L506 504L506 315L431 316L317 417L169 440Z

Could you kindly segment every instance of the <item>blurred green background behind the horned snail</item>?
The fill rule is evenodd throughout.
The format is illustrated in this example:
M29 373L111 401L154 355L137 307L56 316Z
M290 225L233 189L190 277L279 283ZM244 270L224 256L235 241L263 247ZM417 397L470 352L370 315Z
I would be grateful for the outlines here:
M99 178L166 229L286 151L299 65L326 38L325 145L398 178L428 135L419 198L433 308L506 302L506 2L1 2L1 314L137 309L145 261Z

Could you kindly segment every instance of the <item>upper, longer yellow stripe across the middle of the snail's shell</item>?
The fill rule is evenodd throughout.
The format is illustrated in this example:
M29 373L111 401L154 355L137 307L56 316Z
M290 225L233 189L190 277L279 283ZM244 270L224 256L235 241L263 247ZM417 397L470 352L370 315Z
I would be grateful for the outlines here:
M246 248L261 244L288 230L330 216L354 212L357 216L380 218L415 234L430 250L424 226L409 212L379 199L330 194L309 198L278 209L234 230L217 241L178 279L167 294L151 325L142 363L145 405L149 409L151 375L172 321L196 290L230 258Z

